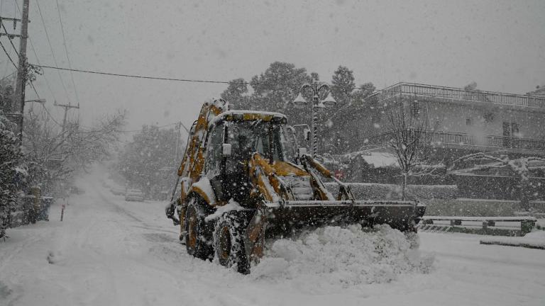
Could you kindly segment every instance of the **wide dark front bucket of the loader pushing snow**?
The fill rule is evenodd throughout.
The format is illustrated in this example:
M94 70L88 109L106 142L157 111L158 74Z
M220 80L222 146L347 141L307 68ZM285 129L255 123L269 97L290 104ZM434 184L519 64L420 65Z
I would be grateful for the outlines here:
M290 235L304 227L342 223L363 226L387 224L401 231L415 231L426 206L409 201L292 200L265 203L267 236Z

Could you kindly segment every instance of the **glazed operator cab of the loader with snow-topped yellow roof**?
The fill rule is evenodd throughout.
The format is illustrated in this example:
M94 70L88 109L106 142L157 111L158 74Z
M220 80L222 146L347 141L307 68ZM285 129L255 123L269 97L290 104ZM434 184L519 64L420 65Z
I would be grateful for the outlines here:
M241 203L251 192L248 160L258 152L270 164L287 162L294 149L286 141L286 118L279 113L222 113L211 125L204 174L219 201Z

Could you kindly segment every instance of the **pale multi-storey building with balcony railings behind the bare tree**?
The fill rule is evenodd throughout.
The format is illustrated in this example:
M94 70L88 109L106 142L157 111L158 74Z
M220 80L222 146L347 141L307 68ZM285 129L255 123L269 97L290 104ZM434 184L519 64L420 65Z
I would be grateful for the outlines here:
M382 145L388 137L387 109L404 105L412 114L426 113L432 145L444 153L438 156L505 152L545 157L545 96L402 82L369 101L379 114L367 123L375 131L365 135L369 145Z

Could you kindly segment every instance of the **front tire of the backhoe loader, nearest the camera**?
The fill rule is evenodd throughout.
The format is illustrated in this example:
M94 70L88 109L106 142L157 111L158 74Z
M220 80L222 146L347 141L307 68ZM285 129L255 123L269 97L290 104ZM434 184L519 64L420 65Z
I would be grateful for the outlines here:
M219 263L226 268L236 264L238 273L242 274L250 274L250 259L244 244L249 222L245 212L225 212L217 220L214 229L214 250Z

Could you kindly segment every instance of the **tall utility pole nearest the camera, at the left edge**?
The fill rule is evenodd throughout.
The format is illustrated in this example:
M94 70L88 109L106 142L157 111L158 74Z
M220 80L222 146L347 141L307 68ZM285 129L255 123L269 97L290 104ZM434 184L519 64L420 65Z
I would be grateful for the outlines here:
M23 113L25 109L26 85L26 39L28 38L28 5L30 0L23 0L23 16L21 16L21 35L19 36L19 67L15 84L15 103L13 113L20 113L19 140L23 143Z

